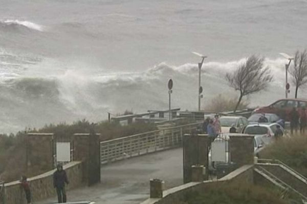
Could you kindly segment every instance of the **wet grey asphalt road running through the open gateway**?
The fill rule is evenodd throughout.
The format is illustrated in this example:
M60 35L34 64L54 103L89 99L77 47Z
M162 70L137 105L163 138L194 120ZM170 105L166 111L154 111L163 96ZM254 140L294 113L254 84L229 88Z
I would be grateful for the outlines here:
M149 197L149 180L162 179L165 189L183 184L182 148L160 151L102 166L101 183L68 191L68 201L136 204ZM56 197L34 202L55 203Z

